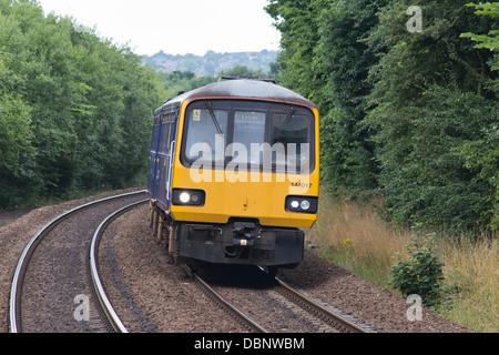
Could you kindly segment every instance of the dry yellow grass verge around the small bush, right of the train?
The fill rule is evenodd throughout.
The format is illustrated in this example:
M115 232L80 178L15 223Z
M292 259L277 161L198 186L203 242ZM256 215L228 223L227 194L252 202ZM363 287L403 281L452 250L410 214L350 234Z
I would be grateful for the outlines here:
M377 214L380 200L352 202L322 195L310 243L322 257L355 275L388 285L394 254L406 253L413 231L391 226ZM499 246L497 239L440 233L436 247L445 260L444 300L435 311L482 333L499 331ZM473 242L471 242L473 241Z

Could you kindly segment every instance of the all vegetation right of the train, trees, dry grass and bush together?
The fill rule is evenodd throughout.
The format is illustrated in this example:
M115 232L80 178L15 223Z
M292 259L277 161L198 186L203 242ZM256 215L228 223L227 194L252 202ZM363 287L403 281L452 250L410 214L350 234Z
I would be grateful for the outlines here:
M326 193L313 245L360 277L426 294L448 318L496 332L498 2L268 2L282 32L277 79L322 113ZM437 231L431 244L408 232L418 224L422 235Z

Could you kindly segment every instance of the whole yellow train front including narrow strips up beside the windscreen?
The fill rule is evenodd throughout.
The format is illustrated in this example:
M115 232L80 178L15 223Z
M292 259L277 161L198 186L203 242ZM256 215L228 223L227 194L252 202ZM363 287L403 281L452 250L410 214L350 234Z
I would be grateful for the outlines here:
M189 102L183 104L179 122L179 141L173 164L172 189L204 191L205 201L203 206L172 204L171 213L174 220L225 224L228 222L228 219L235 217L256 219L263 226L309 229L314 225L317 219L316 213L286 211L291 209L291 205L297 205L297 210L299 211L299 203L303 202L301 199L294 201L286 200L286 197L309 196L310 199L317 199L318 196L319 146L318 111L316 109L308 114L310 126L307 128L308 134L312 136L312 142L308 142L310 143L310 156L313 156L312 172L309 174L294 175L282 173L281 171L274 173L252 172L249 168L248 171L244 169L235 171L226 165L218 166L217 169L185 166L185 163L183 164L181 162L181 152L185 154L185 141L189 141L183 136L187 134L185 130L202 124L204 120L206 124L205 130L214 131L215 129L212 126L211 119L217 121L216 124L220 125L218 130L225 129L225 126L228 126L226 122L230 121L226 119L227 115L234 115L231 112L235 111L230 108L228 103L225 103L230 108L226 109L228 113L224 111L225 106L223 104L220 104L220 108L215 104L213 110L211 106L207 106L205 110L204 105L195 103L195 105L191 105L191 109L186 110L187 104ZM269 103L266 104L269 105ZM241 110L244 110L244 108ZM274 121L277 122L274 129L278 131L275 135L281 134L278 125L284 125L284 122L289 121L292 113L296 113L299 116L299 111L305 109L297 108L296 110L292 110L288 113L288 106L283 104L282 112L274 113ZM254 116L257 118L257 114L254 114ZM269 115L267 114L267 116ZM303 114L299 118L303 118ZM184 148L182 148L182 140L184 140ZM214 166L214 164L210 166ZM307 202L304 203L306 204Z

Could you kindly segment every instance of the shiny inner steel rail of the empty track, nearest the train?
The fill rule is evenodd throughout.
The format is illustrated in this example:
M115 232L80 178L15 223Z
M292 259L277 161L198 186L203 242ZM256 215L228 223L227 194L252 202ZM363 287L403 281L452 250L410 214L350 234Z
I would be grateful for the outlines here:
M116 312L114 311L114 307L112 306L111 302L108 298L108 295L105 294L104 287L101 282L101 277L99 276L99 243L102 237L102 235L105 232L105 229L120 215L125 213L126 211L133 209L134 206L149 202L149 199L141 200L134 203L129 204L128 206L124 206L112 214L110 214L102 223L99 225L99 227L95 230L95 233L92 237L92 243L90 245L90 275L92 276L92 282L95 288L95 293L98 295L99 302L104 310L108 320L110 321L111 325L113 326L114 331L118 333L129 333L126 327L123 325L123 322L121 322L120 317L118 316Z

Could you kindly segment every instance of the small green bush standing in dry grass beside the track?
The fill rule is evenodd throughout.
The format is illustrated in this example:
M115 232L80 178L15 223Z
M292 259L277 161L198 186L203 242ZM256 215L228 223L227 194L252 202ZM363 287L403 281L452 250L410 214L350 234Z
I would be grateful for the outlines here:
M415 227L411 242L406 245L408 255L406 258L396 253L397 262L390 270L389 284L399 290L404 296L417 294L421 296L427 306L439 303L440 288L444 281L444 260L438 257L434 250L432 239L435 233L424 234L421 224Z

